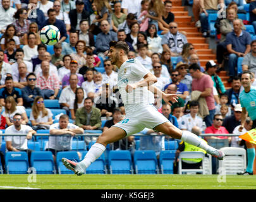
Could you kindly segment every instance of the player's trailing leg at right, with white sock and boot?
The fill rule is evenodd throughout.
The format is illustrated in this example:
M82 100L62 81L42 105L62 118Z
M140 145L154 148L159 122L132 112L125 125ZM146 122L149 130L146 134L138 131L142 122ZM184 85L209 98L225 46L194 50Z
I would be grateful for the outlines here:
M217 150L210 145L207 145L205 141L202 141L202 139L198 138L196 134L193 134L190 131L181 131L181 129L176 128L173 124L171 124L171 122L164 122L159 126L156 126L154 129L161 133L167 134L172 138L185 141L186 143L194 146L198 146L203 150L207 151L207 153L209 153L210 155L217 157L219 160L222 160L224 158L224 154L222 153L222 151Z

